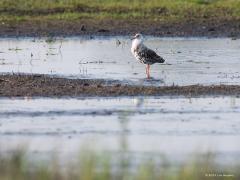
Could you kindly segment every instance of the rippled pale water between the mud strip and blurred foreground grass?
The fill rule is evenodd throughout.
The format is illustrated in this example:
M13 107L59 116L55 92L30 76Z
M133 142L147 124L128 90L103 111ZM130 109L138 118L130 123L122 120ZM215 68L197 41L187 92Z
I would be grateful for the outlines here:
M214 151L239 160L240 98L122 97L0 100L0 147L37 155L91 148L184 159ZM64 156L63 156L64 157Z

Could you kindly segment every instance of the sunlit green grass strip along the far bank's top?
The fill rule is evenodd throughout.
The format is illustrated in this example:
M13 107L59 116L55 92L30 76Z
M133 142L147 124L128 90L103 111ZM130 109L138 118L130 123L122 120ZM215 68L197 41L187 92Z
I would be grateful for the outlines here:
M0 20L240 17L239 0L0 0Z

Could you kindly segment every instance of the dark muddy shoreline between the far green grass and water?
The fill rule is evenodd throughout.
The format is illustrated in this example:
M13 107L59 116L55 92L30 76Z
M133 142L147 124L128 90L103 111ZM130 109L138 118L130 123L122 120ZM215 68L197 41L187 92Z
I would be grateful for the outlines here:
M0 37L132 35L142 32L165 37L240 37L237 18L199 18L176 22L149 19L27 20L0 23Z

